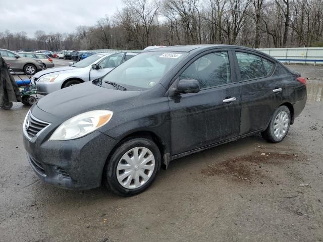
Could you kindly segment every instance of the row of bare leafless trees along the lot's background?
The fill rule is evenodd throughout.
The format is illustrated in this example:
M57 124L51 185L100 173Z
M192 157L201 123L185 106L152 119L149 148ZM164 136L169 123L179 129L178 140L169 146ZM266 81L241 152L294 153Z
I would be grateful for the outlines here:
M321 0L124 0L71 33L0 32L0 48L143 49L149 45L323 46Z

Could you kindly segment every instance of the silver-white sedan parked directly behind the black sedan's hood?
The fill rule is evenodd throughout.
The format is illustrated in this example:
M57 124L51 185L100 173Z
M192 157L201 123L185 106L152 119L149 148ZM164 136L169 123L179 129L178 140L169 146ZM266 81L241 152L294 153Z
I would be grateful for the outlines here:
M32 82L36 83L39 94L46 95L65 87L100 78L136 54L127 52L93 54L71 67L38 72L33 76Z

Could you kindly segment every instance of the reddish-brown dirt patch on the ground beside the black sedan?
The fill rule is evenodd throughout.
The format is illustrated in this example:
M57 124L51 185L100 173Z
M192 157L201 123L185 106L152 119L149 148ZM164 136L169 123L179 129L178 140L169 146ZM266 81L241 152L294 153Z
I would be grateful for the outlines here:
M207 176L228 175L239 180L251 181L255 178L266 176L267 170L262 168L264 164L279 164L285 161L300 159L297 154L254 152L235 158L229 158L220 164L211 164L201 171Z

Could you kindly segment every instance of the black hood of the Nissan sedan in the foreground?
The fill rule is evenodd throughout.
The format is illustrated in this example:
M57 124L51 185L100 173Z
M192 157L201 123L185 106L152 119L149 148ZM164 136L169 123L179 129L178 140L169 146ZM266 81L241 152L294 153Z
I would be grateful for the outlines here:
M112 87L114 88L114 87ZM99 87L92 82L81 83L50 93L37 101L37 106L59 118L68 119L77 114L105 109L121 110L121 106L131 105L132 98L141 91L121 91ZM50 122L50 120L47 120Z

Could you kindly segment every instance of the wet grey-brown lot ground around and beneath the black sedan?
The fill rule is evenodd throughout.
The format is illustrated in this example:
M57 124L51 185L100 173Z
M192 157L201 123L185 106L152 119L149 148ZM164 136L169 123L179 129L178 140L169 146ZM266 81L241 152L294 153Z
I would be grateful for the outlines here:
M0 241L323 241L323 67L289 67L309 100L283 142L178 159L131 198L39 181L22 145L28 107L0 109Z

